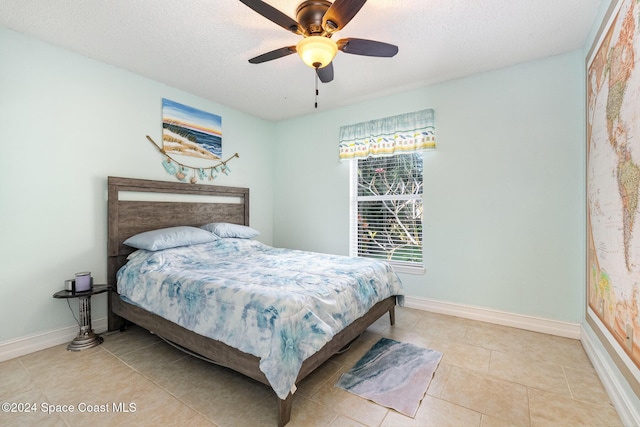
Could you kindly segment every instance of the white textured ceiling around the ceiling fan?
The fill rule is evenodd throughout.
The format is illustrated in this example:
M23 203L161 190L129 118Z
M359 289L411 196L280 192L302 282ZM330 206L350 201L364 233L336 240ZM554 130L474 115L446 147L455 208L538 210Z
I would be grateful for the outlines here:
M266 0L295 19L299 0ZM601 0L369 0L334 39L399 47L338 52L318 111L583 47ZM267 120L314 110L297 55L249 64L300 36L237 0L2 0L0 26Z

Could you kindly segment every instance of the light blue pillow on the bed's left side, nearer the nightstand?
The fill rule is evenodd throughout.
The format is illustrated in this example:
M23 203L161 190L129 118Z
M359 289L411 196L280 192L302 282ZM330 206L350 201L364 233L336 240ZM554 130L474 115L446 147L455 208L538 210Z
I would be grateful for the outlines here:
M197 227L178 226L145 231L124 241L124 244L136 249L159 251L178 246L198 245L218 240L218 237Z

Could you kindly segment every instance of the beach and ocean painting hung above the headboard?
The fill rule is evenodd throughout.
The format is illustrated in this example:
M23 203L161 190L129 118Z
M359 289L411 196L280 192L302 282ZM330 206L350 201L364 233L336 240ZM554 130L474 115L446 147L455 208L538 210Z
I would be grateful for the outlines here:
M163 98L162 147L167 154L220 160L222 117Z

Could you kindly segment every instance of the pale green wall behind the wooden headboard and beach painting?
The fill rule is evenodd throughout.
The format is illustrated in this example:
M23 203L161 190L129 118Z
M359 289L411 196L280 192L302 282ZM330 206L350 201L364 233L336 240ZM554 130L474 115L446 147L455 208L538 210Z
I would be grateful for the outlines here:
M251 188L272 243L273 123L3 28L0 58L0 343L73 325L51 296L74 272L105 282L107 176L176 181L145 138L160 141L163 97L222 116L240 158L217 183ZM104 295L92 306L106 316Z

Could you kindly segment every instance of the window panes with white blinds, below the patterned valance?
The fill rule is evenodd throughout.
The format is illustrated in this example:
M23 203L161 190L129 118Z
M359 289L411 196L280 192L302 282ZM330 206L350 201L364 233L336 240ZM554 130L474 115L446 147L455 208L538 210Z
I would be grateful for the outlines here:
M422 153L351 160L352 256L422 271Z

